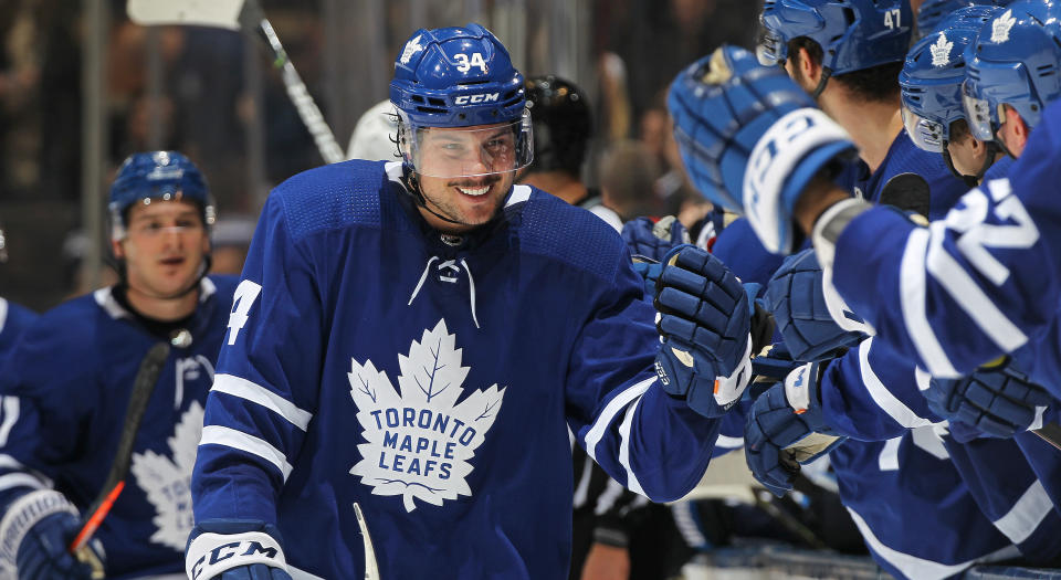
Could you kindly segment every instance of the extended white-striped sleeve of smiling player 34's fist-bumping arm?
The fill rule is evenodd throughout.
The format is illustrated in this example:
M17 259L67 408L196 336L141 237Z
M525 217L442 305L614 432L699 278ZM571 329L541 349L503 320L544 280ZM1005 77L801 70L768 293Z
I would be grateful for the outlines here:
M655 310L623 262L603 287L572 349L568 420L586 452L616 481L655 502L684 496L711 460L721 420L666 394L654 371Z

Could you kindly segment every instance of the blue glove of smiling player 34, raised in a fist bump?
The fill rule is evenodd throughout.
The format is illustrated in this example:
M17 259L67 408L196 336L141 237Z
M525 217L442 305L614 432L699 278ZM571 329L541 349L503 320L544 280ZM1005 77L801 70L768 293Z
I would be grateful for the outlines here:
M722 415L752 375L752 308L740 282L705 250L679 246L665 256L655 308L663 390L700 414Z

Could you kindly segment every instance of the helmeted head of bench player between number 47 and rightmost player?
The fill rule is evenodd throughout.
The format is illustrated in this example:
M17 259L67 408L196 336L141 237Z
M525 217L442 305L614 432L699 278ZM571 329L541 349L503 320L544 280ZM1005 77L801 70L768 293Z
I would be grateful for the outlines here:
M942 154L950 171L969 187L979 183L1002 152L994 141L969 133L962 104L965 54L984 23L1001 12L988 6L957 10L914 44L899 76L903 123L914 145Z

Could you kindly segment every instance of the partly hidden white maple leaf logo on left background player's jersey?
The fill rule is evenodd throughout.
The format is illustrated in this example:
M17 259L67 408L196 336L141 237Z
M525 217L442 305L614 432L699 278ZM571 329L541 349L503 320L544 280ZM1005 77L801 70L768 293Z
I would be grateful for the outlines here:
M155 506L156 531L151 541L183 551L188 534L195 526L191 512L191 468L196 464L196 451L202 434L203 410L199 401L192 401L180 418L174 436L167 440L172 458L146 451L133 454L129 471L137 484Z

